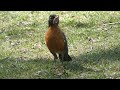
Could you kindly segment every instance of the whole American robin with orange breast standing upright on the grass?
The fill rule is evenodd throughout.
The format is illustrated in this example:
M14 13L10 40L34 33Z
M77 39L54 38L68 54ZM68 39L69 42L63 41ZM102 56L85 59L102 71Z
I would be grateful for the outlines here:
M60 30L59 16L50 15L48 20L48 31L45 33L45 41L49 51L54 56L54 60L58 59L61 62L71 61L72 58L68 55L68 45L65 34Z

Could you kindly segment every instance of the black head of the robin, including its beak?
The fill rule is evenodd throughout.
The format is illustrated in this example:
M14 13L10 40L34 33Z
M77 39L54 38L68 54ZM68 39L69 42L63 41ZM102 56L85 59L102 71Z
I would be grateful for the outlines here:
M59 16L52 14L49 16L49 20L48 20L48 25L50 26L56 26L59 24Z

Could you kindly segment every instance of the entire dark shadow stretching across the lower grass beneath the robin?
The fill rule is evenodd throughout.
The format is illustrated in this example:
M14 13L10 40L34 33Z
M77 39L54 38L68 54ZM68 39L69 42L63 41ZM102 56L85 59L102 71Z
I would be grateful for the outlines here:
M17 60L15 58L0 59L0 78L69 78L77 73L102 73L86 65L96 65L102 60L120 60L120 46L109 50L89 52L78 57L72 57L73 61L65 62L64 68L60 61L54 62L48 58L35 58L29 60ZM91 64L92 62L92 64ZM85 66L84 66L85 65ZM27 75L26 75L27 74ZM87 78L87 77L86 77Z

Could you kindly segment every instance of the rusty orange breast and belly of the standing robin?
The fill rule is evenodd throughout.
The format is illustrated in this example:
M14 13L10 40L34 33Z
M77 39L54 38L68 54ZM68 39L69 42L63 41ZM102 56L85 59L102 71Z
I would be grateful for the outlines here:
M45 33L45 41L50 51L61 52L64 50L64 38L59 28L49 27Z

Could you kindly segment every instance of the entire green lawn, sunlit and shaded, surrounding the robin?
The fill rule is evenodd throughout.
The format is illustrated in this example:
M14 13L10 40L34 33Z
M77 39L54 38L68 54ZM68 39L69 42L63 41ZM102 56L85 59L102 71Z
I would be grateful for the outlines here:
M45 45L50 14L68 40L73 61L64 67ZM0 11L0 78L120 78L119 23L119 11Z

